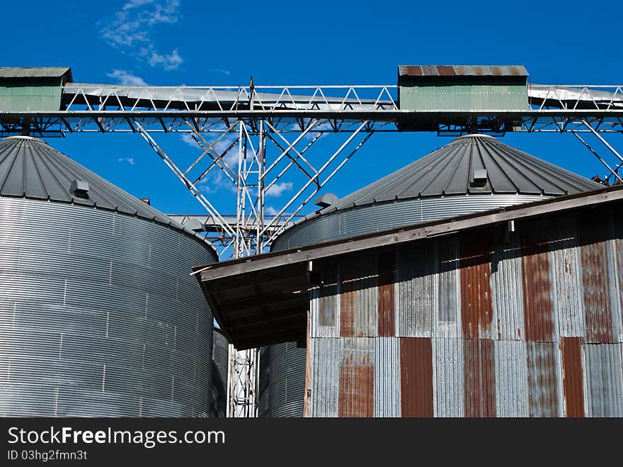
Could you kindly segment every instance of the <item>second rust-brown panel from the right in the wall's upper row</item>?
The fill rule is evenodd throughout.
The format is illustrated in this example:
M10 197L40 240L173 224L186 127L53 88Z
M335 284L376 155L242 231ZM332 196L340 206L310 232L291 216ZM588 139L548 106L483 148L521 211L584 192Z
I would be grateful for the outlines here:
M554 341L554 303L551 298L551 264L547 245L522 239L522 285L525 339Z

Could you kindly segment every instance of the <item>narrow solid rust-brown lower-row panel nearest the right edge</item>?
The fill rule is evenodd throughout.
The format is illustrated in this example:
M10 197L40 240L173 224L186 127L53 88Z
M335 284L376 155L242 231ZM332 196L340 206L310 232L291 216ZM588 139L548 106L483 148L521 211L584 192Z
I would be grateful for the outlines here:
M584 417L582 338L562 337L562 370L567 417Z

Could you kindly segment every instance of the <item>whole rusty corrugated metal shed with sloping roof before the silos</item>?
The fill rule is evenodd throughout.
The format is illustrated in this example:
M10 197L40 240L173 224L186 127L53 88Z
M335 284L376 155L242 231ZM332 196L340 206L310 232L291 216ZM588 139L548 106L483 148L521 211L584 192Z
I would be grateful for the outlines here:
M539 180L534 167L525 178ZM585 192L595 185L566 174L555 175L575 194L197 274L234 344L251 342L254 322L254 344L300 335L309 310L306 415L623 416L623 190ZM221 315L230 284L251 277L255 295L241 303L270 305L230 300L239 320ZM307 308L280 306L303 293Z

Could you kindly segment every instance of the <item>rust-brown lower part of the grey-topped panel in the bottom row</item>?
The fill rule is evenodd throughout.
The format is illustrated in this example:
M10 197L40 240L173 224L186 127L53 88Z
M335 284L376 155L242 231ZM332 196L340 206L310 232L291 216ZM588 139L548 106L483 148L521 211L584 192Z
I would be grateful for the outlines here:
M340 417L374 417L375 367L372 364L340 366Z

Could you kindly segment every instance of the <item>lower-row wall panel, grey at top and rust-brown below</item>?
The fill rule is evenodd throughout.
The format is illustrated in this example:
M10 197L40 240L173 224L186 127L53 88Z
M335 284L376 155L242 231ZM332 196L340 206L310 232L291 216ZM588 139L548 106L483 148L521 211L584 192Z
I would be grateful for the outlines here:
M340 339L339 417L374 417L375 339Z

